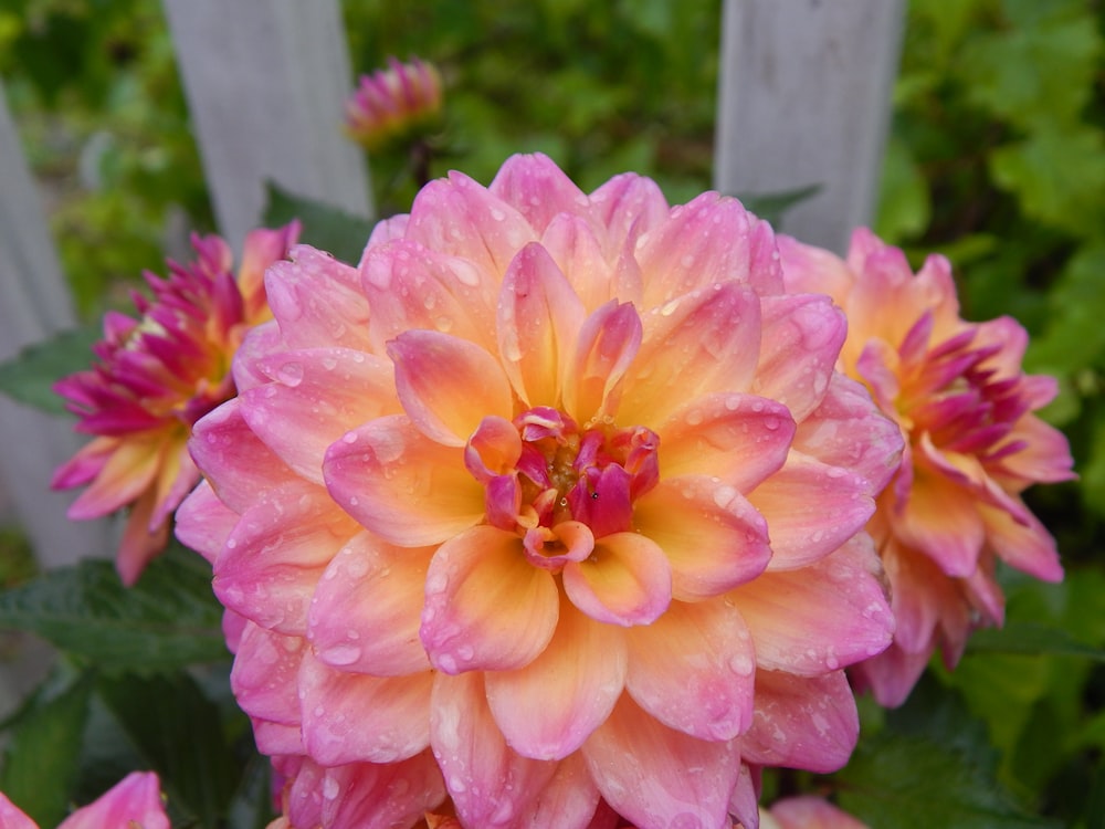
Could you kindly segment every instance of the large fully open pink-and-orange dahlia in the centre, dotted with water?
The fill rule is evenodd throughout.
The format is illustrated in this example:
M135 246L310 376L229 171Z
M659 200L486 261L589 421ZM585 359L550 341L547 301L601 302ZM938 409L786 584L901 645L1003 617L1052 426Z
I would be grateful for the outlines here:
M266 284L177 533L291 826L754 826L845 762L901 439L766 223L519 156Z

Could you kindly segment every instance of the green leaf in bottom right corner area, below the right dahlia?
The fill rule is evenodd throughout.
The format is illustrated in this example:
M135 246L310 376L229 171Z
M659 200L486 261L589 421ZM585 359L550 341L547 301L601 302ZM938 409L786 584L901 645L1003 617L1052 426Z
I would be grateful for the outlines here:
M922 682L861 741L839 774L840 805L872 827L1057 829L998 784L996 763L982 724L953 692Z

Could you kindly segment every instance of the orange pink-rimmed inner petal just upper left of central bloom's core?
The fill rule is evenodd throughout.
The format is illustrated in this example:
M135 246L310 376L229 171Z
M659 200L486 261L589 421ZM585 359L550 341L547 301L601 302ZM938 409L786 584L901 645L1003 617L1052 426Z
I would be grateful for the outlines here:
M396 390L419 431L448 447L463 447L487 416L514 414L511 385L497 359L466 339L408 330L388 343Z

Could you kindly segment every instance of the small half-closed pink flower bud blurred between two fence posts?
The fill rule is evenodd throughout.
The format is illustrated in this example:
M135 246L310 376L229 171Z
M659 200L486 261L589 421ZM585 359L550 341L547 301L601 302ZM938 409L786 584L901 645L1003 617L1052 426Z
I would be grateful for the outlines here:
M401 135L432 123L442 105L438 67L412 57L388 59L388 67L361 75L346 101L346 132L368 149L378 149Z

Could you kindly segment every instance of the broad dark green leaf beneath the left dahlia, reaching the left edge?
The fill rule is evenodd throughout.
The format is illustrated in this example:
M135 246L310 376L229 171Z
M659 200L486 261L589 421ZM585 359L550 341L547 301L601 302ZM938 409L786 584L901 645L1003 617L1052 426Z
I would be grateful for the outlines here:
M0 628L30 630L109 670L166 671L227 658L210 570L193 553L155 559L124 587L109 562L51 570L0 594Z

